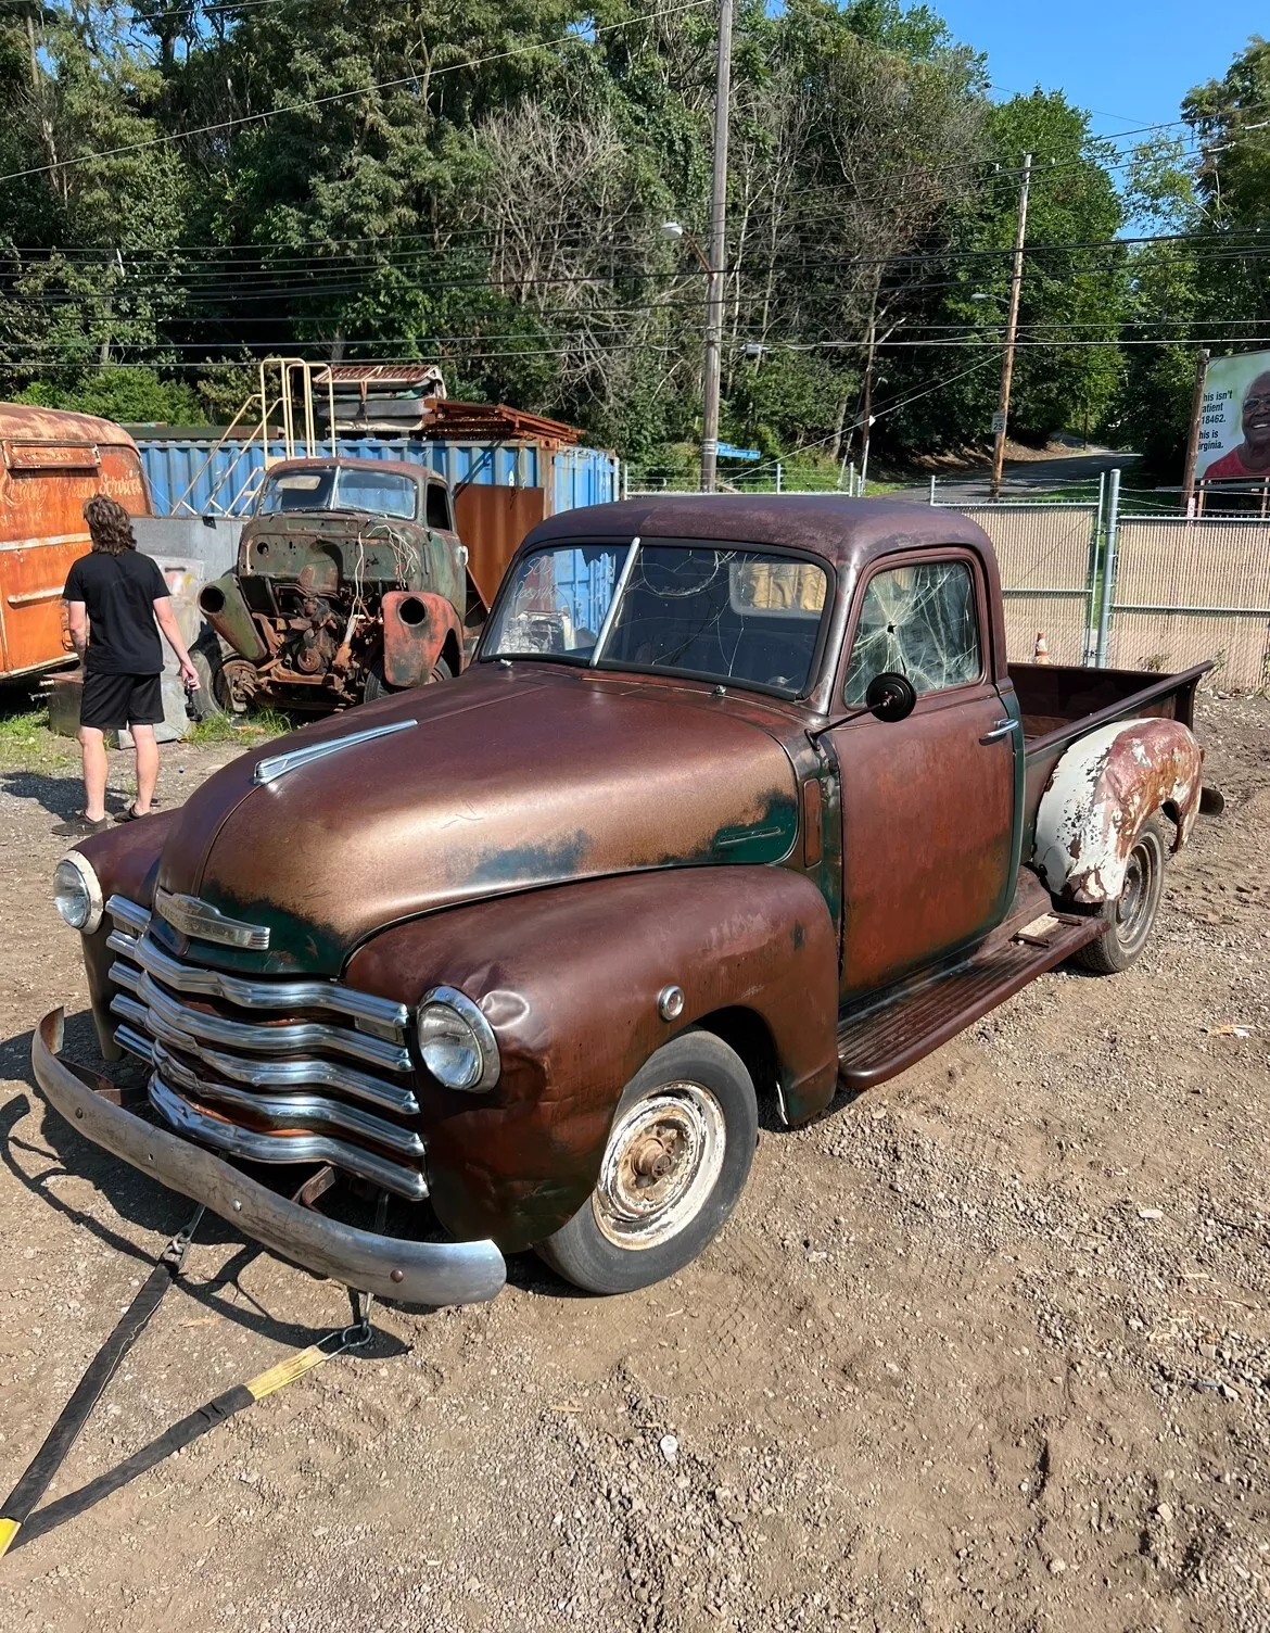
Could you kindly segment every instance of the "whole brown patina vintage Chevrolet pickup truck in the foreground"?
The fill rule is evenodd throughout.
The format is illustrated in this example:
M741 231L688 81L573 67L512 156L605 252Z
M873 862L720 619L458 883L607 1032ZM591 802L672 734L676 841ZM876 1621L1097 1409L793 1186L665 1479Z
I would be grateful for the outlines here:
M144 1071L62 1060L54 1011L36 1079L351 1287L490 1298L529 1248L645 1287L728 1218L764 1101L805 1124L1063 960L1141 954L1201 805L1201 674L1007 663L952 511L555 516L459 679L59 864L101 1052ZM387 1221L309 1205L330 1182Z

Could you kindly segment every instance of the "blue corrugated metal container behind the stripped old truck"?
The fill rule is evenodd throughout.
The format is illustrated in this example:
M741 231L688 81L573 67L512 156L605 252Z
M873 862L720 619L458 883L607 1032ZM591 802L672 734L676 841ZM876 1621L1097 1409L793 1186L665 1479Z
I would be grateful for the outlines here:
M150 500L157 516L245 516L251 509L264 451L260 443L139 441ZM550 509L606 505L617 498L617 461L599 447L566 447L552 454L535 444L508 443L408 443L349 438L338 444L346 459L405 459L431 465L452 487L460 482L550 492ZM282 459L284 447L269 449ZM295 452L304 456L304 444ZM318 443L315 454L330 454Z

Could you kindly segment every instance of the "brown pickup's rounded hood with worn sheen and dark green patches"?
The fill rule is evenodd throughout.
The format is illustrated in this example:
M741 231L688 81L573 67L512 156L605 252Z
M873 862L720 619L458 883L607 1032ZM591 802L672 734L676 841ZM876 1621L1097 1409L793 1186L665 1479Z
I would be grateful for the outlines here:
M356 741L382 728L395 730ZM343 746L256 781L263 761L325 743ZM774 862L797 823L785 750L726 699L482 665L222 768L173 821L158 885L269 928L263 954L199 942L209 962L336 975L366 937L420 913L604 874Z

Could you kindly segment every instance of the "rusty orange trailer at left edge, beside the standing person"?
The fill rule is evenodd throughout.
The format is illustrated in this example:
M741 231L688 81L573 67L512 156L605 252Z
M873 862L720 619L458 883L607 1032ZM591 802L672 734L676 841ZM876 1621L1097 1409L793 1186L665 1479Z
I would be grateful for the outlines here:
M109 493L150 514L137 444L109 420L0 403L0 679L70 652L62 586L88 550L83 501Z

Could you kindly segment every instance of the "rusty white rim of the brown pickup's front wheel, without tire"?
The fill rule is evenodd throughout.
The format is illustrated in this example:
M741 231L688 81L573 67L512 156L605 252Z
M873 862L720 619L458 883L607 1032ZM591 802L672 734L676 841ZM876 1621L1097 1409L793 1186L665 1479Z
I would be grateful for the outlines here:
M642 1251L677 1236L715 1189L728 1135L700 1083L666 1083L614 1125L591 1210L615 1248Z

